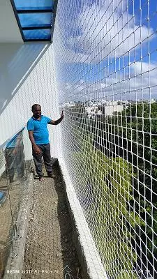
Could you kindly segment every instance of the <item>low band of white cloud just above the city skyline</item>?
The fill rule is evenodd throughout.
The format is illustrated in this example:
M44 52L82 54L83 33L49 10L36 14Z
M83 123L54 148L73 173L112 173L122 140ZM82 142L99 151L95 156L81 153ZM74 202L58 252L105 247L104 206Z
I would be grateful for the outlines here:
M103 81L68 82L63 84L66 100L140 100L157 99L157 63L135 62L130 65L130 78L121 73L117 77L107 77ZM150 94L151 93L151 94Z

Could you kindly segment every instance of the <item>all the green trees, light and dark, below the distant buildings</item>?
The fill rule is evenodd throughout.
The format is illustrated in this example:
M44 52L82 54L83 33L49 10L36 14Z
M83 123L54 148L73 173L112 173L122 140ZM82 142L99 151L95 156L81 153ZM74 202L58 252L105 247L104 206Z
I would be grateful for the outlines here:
M80 104L70 114L77 195L105 270L110 278L137 278L133 264L142 267L148 258L151 269L153 241L157 258L157 103L94 120Z

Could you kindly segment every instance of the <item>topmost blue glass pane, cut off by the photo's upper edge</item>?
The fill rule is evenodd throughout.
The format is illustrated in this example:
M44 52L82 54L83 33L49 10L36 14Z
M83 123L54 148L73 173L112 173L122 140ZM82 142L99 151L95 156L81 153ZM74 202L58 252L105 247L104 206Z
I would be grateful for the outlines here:
M41 10L53 8L54 0L14 0L17 10Z

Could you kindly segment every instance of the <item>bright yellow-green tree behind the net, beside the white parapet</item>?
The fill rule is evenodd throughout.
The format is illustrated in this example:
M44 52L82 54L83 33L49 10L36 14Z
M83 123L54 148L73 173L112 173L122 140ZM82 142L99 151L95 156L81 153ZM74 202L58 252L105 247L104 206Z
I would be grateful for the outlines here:
M143 225L142 220L129 207L133 199L133 167L122 158L107 158L94 149L93 136L84 135L80 152L73 154L78 162L75 177L80 183L82 198L89 197L89 185L93 200L84 213L110 278L129 278L137 255L131 243L133 236L127 227ZM132 274L132 278L137 278Z

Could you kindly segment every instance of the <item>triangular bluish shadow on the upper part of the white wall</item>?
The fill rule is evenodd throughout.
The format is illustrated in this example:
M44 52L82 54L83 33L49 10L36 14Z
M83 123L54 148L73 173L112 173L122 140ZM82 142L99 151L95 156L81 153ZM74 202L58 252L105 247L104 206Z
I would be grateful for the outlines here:
M0 45L0 115L49 46L47 43Z

